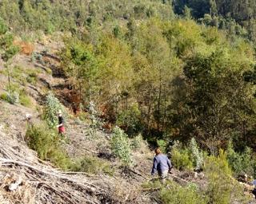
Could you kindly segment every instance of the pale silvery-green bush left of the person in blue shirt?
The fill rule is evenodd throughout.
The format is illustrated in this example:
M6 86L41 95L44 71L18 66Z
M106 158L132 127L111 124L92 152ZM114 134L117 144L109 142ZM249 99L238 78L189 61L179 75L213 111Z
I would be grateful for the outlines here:
M122 163L129 165L131 161L130 154L130 142L128 136L122 131L122 129L116 127L114 128L114 135L110 141L111 150L114 155L121 159Z

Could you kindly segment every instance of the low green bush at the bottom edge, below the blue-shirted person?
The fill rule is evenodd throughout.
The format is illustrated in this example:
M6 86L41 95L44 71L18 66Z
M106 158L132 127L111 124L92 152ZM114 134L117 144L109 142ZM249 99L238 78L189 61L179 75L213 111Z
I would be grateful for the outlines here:
M169 188L163 188L160 192L162 202L169 204L206 204L207 198L202 194L196 186L188 185L185 187L178 186L172 182Z

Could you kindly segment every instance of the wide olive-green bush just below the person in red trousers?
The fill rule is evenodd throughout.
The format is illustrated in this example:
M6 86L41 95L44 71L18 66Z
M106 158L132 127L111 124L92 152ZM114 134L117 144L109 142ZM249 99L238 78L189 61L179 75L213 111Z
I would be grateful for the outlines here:
M38 152L40 159L49 160L64 170L70 168L71 160L60 146L58 135L50 131L46 124L29 125L26 141L31 149Z

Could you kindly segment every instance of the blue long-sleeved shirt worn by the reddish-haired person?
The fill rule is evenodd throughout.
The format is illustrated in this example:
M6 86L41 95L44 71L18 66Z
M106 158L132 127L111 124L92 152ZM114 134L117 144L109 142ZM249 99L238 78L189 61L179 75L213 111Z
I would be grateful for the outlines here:
M154 175L156 171L163 172L171 168L170 159L166 155L160 154L154 157L154 163L151 171L151 175Z

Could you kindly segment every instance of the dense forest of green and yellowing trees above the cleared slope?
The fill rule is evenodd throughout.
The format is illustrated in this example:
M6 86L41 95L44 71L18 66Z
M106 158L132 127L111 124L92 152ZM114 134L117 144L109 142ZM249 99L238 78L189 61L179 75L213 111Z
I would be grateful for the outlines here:
M253 1L2 0L12 33L66 33L62 73L131 137L255 149ZM69 34L70 33L70 34Z

